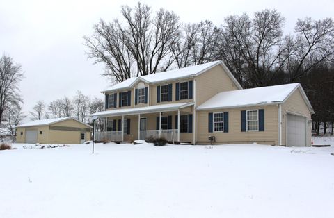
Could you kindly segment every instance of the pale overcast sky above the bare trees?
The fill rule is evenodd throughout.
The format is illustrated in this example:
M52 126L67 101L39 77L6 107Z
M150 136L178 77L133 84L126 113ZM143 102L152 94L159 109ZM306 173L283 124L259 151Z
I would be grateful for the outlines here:
M135 6L138 1L0 1L0 55L6 53L22 65L20 84L24 110L38 100L45 103L72 97L77 90L103 99L100 91L108 81L100 76L102 65L87 60L82 44L84 35L93 33L100 18L112 21L120 17L120 6ZM219 25L228 15L276 8L286 18L285 31L292 32L298 18L333 18L334 1L141 1L153 10L166 8L182 22L208 19Z

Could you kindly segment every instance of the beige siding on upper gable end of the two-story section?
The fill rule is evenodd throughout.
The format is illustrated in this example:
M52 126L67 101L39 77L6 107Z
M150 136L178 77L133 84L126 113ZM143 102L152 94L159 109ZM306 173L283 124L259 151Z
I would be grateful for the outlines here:
M238 90L221 65L212 67L196 77L196 106L219 92Z

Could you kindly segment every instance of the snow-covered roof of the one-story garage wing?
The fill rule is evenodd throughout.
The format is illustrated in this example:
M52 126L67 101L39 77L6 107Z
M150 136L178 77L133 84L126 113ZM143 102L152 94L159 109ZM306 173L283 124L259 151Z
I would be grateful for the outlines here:
M289 94L291 94L298 87L301 87L299 83L291 83L285 85L256 87L246 90L220 92L211 99L205 101L205 103L202 103L197 109L207 110L215 108L235 108L238 106L282 103L287 97L289 97Z

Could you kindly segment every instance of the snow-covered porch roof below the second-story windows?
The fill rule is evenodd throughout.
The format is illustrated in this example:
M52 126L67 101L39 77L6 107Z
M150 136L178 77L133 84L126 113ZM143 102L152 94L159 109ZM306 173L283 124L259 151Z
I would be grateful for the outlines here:
M96 117L115 117L120 115L138 115L138 114L148 114L152 112L167 112L167 111L175 111L182 108L186 108L189 106L193 106L193 103L166 103L157 106L148 106L141 108L124 108L117 110L106 110L102 112L96 112L90 116Z

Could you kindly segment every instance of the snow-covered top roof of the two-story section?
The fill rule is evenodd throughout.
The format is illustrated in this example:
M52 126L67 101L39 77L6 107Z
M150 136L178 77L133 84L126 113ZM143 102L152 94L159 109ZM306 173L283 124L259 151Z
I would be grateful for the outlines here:
M129 78L126 81L113 85L102 92L109 92L112 90L120 90L120 89L128 88L134 85L134 83L136 83L136 81L139 81L139 80L145 81L146 83L157 83L157 82L168 81L168 80L177 79L177 78L187 78L191 76L197 76L198 74L205 72L205 70L210 69L219 64L221 64L225 68L226 72L228 72L229 76L232 78L232 80L234 80L234 83L236 83L237 86L239 86L239 88L241 89L241 86L239 85L239 83L237 83L237 81L232 76L228 68L223 64L222 61L217 60L214 62L208 62L208 63L202 64L202 65L195 65L195 66L184 67L180 69L173 69L173 70L169 70L166 72L150 74L146 76Z

